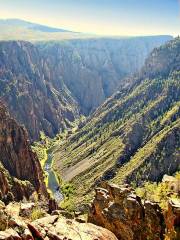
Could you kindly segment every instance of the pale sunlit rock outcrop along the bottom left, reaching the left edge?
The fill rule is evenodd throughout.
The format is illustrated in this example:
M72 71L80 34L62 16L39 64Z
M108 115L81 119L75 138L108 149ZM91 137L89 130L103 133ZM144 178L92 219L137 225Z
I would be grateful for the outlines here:
M11 209L14 211L12 206ZM21 218L18 212L12 216L4 209L3 213L0 220L0 226L3 226L0 228L1 240L117 240L107 229L91 223L79 223L57 214L46 214L31 222L30 219L24 221L25 218Z

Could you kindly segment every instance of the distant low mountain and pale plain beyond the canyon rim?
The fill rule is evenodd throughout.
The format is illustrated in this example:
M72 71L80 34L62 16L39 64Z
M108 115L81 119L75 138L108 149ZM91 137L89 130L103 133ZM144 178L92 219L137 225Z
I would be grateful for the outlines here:
M96 34L80 33L67 29L50 27L43 24L31 23L21 19L0 19L0 40L22 40L30 42L62 41L67 39L124 39L132 37L99 36ZM164 37L171 37L163 35Z

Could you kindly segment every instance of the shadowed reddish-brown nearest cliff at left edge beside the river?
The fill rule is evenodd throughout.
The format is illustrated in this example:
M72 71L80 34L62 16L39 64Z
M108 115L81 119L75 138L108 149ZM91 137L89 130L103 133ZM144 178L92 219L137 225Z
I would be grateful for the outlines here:
M29 197L34 190L47 196L43 171L32 152L26 130L9 116L0 102L0 190L1 197L17 200ZM13 199L9 199L13 200Z

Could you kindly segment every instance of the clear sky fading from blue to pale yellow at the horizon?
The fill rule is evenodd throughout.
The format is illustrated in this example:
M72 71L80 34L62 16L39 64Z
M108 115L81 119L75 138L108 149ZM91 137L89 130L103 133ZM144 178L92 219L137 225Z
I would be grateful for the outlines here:
M0 18L99 35L177 36L180 0L0 0Z

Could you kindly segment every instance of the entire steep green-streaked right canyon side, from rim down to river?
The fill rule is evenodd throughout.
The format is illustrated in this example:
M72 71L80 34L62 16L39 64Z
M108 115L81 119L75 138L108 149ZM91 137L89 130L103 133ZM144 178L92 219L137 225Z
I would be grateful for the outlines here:
M85 199L101 180L141 185L178 170L179 46L178 38L155 49L132 85L109 98L57 146L57 171L77 186L77 195Z

